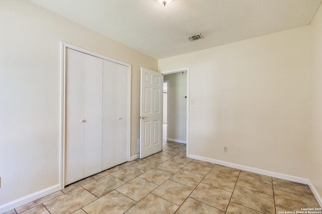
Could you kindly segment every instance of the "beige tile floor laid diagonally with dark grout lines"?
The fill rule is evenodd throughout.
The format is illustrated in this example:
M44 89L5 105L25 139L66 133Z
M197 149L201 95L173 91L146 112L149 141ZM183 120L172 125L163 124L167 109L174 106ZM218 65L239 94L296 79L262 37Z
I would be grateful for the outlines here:
M123 163L7 213L287 213L319 207L307 185L185 154L185 144L166 142L162 152Z

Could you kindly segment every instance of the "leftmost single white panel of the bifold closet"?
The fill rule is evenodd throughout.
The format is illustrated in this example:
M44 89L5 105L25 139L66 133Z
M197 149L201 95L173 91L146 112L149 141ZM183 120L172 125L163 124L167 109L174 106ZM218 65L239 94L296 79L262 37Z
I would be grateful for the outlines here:
M65 185L84 178L86 54L66 49Z

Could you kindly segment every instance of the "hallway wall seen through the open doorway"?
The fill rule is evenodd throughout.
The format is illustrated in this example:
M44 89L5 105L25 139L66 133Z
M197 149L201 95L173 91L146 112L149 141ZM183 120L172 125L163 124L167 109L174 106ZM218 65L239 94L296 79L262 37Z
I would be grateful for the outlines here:
M187 141L187 72L166 74L168 85L168 132L169 140Z

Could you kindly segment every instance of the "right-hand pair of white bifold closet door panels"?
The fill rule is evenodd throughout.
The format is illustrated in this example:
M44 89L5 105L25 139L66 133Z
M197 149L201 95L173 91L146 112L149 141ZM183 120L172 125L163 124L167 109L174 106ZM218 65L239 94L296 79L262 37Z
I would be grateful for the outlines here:
M102 169L128 160L129 70L127 66L103 63Z

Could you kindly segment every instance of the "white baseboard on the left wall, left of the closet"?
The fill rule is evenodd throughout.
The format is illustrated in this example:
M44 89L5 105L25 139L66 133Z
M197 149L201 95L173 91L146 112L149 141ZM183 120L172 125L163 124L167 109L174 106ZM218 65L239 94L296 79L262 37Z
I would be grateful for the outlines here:
M51 194L51 193L54 193L56 191L59 191L60 190L60 184L56 184L54 186L50 186L46 189L42 189L38 192L35 192L35 193L32 193L30 195L27 195L27 196L24 196L24 197L21 197L17 200L14 200L14 201L11 201L9 203L5 203L3 205L0 206L0 213L4 213L4 212L7 212L7 211L10 211L14 208L17 208L19 206L22 206L26 203L29 203L31 201L34 201L34 200L37 200L41 197L44 197L48 194Z

